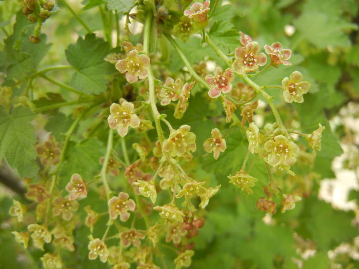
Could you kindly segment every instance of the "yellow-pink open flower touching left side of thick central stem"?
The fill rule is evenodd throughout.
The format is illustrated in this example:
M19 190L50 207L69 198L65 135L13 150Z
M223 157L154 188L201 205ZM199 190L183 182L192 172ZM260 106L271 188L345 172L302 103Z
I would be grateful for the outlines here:
M131 50L124 60L116 63L116 69L125 74L129 83L134 83L139 79L144 79L148 75L150 58L145 54L139 54L138 50Z

